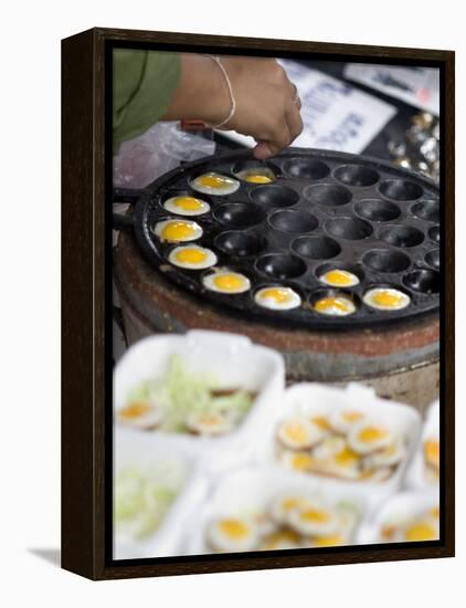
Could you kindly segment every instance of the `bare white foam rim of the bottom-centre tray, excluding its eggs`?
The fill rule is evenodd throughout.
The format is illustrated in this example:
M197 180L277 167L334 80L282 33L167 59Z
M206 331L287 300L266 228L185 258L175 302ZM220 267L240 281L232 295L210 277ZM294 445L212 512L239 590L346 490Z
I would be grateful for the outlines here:
M230 472L214 485L195 522L187 532L183 554L201 555L212 553L205 542L205 532L212 518L253 514L264 511L271 501L283 492L318 493L324 500L337 503L346 500L360 509L360 521L370 507L370 492L361 485L347 486L332 480L303 478L294 471L284 471L279 467L247 467Z

